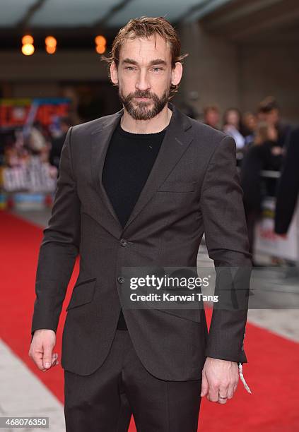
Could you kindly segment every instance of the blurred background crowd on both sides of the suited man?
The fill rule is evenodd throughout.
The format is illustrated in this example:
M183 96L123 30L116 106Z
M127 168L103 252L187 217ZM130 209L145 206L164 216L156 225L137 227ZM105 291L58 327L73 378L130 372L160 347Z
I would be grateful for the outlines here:
M181 107L186 114L222 130L235 140L236 164L243 189L250 251L253 252L254 227L262 217L263 200L266 196L276 198L279 194L281 172L293 126L281 121L279 104L271 96L262 100L254 112L241 113L239 109L231 107L221 113L217 104L210 104L204 107L202 116L199 116L186 107L187 105ZM52 124L47 127L39 121L33 121L30 127L15 128L2 137L2 193L53 193L61 148L66 132L73 124L74 121L69 116L54 116ZM291 169L288 169L288 177L292 175L290 171ZM284 196L290 197L289 193L280 195L280 200L283 200ZM285 211L285 203L279 202L280 212L276 215L276 225L278 227L280 224L277 228L280 234L288 231L296 198L295 193L293 202L288 203L288 212Z

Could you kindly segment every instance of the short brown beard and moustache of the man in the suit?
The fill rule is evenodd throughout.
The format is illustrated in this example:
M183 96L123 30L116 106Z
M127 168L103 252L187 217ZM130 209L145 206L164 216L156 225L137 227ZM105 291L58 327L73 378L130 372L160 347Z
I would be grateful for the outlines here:
M122 91L119 89L119 99L121 100L124 108L134 120L150 120L156 117L159 112L165 107L169 99L170 88L166 89L161 97L158 97L156 93L149 91L136 90L134 93L124 96ZM134 97L148 97L150 101L138 101L134 102ZM148 107L153 104L153 107Z

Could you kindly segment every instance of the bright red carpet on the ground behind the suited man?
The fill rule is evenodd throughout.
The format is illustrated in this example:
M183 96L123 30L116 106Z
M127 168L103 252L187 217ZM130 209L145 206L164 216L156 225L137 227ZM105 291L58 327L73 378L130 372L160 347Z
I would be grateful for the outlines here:
M28 357L35 299L35 271L42 229L4 211L0 211L0 226L0 262L2 263L0 336L63 402L64 376L61 365L42 373ZM78 265L70 282L71 287L77 274ZM65 301L69 300L70 295L71 292L68 292ZM61 329L64 318L63 311L57 331L56 351L59 353L59 359L61 359ZM244 366L244 374L253 394L249 395L242 383L239 383L235 397L226 405L202 400L199 430L206 432L298 431L299 344L248 324L245 349L249 364ZM130 432L133 431L135 428L132 421Z

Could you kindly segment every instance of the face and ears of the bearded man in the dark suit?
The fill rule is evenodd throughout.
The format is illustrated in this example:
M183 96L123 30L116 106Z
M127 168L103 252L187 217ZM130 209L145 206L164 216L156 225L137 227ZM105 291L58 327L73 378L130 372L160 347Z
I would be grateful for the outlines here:
M149 120L167 104L170 85L180 82L182 65L177 63L171 68L170 47L162 37L153 35L148 39L125 40L119 52L119 66L112 63L110 73L131 117Z

